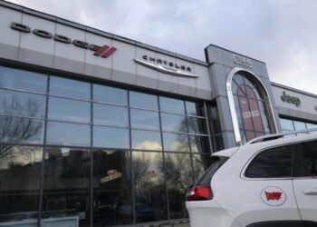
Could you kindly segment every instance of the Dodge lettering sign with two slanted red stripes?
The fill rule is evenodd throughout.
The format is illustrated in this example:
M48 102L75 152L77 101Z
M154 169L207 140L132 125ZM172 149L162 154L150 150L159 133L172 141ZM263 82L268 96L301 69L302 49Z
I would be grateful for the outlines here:
M31 33L31 28L27 25L22 25L22 24L18 24L15 22L11 23L11 28L19 31L19 32L23 32L23 33ZM64 36L64 35L52 35L51 33L41 30L41 29L34 29L32 30L32 32L34 33L34 35L37 35L39 37L45 38L45 39L52 39L55 40L56 42L61 42L63 44L73 44L77 47L81 47L83 49L90 49L91 51L94 51L95 53L93 55L95 56L101 56L103 58L107 58L110 56L110 54L112 54L113 52L115 52L117 50L116 47L110 47L109 45L103 45L103 46L99 46L96 44L88 44L86 42L83 42L81 40L77 40L74 39L72 40L71 38Z

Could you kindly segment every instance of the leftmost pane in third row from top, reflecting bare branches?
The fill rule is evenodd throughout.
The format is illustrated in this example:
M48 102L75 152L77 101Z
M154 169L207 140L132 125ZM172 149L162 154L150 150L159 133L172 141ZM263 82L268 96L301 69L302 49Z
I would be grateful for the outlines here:
M0 116L0 143L43 143L43 121Z

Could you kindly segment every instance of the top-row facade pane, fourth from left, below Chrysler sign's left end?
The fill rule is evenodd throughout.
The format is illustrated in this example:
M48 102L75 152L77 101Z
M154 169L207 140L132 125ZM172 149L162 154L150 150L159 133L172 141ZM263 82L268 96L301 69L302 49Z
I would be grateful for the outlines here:
M130 106L157 111L159 110L158 96L130 92Z

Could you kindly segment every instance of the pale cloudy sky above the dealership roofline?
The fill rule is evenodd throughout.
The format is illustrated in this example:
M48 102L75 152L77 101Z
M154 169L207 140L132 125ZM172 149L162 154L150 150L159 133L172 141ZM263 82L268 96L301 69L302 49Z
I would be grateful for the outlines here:
M216 44L266 63L272 81L317 94L317 0L10 0L205 60Z

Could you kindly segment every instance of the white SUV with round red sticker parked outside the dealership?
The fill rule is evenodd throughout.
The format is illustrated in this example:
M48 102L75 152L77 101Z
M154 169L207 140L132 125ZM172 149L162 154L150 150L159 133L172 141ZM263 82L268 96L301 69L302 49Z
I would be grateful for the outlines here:
M192 227L317 227L317 134L214 153L186 199Z

